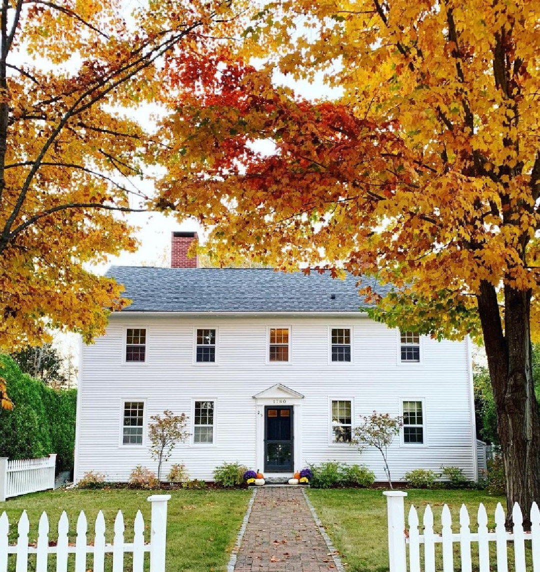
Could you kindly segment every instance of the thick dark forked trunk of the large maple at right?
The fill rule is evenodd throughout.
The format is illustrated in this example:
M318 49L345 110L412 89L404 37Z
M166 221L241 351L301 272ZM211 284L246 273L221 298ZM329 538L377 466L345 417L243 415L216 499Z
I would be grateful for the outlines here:
M531 292L505 287L503 333L497 293L485 282L478 310L487 364L497 408L497 428L506 477L506 524L519 503L523 526L530 529L530 509L540 503L540 424L534 394L530 336Z

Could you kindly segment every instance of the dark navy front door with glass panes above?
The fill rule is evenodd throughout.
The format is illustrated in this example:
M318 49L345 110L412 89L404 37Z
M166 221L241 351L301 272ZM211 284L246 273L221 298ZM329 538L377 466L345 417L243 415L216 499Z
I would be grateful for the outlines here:
M265 472L293 470L293 408L265 407Z

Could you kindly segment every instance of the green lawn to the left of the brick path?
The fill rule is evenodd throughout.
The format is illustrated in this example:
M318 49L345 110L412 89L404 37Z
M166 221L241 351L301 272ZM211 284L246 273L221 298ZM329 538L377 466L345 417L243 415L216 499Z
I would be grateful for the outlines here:
M30 519L30 541L37 539L39 516L49 515L50 538L56 538L56 526L62 510L70 519L70 542L75 539L75 525L80 510L94 526L99 509L107 524L107 542L113 537L113 523L122 510L126 523L126 541L133 539L133 521L140 509L145 518L145 538L150 525L149 491L135 490L57 490L19 496L0 503L0 514L10 519L10 542L17 539L16 523L22 510ZM247 490L170 491L167 518L167 571L203 572L226 570L230 551L247 509L251 492ZM89 535L90 536L90 535ZM10 558L11 560L11 558ZM54 558L50 559L51 565ZM10 567L11 567L10 563ZM51 568L52 569L52 568Z

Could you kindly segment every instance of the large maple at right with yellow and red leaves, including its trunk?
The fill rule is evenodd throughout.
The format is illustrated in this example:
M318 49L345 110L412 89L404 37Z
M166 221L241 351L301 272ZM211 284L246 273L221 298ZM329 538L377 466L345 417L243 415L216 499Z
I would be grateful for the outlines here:
M540 4L281 0L243 38L235 54L176 70L193 91L161 124L155 208L197 216L223 258L392 283L372 312L391 326L481 335L509 514L515 501L529 514L540 500ZM325 74L339 97L295 96L277 71Z

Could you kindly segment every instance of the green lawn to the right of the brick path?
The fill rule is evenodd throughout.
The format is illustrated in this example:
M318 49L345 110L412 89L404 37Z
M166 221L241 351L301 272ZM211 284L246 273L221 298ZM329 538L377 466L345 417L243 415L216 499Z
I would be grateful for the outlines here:
M489 496L482 491L447 490L409 490L405 498L405 516L411 504L421 507L419 514L422 522L423 507L428 503L434 513L435 531L441 531L441 511L446 503L452 514L454 531L459 531L459 509L462 503L469 507L471 529L476 525L476 511L483 503L489 515L488 526L493 528L494 512L498 502L506 509L503 498ZM388 533L386 521L386 497L381 490L373 489L330 489L307 491L323 525L341 554L348 572L387 572L388 571ZM494 543L490 543L494 545ZM491 546L491 549L494 549ZM455 569L459 569L458 546L455 545ZM511 564L511 549L509 549ZM474 549L473 549L473 561ZM493 562L492 562L493 563ZM512 566L509 566L511 570Z

